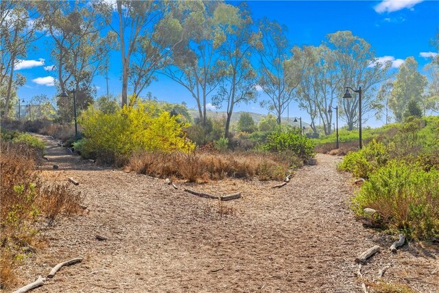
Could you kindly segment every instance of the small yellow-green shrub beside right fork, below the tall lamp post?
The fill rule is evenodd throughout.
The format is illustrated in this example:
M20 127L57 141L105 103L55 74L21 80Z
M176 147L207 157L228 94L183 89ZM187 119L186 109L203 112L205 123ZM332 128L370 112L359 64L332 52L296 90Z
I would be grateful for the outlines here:
M389 160L388 150L381 142L372 140L357 152L348 152L338 166L357 178L368 178L377 168L384 166Z

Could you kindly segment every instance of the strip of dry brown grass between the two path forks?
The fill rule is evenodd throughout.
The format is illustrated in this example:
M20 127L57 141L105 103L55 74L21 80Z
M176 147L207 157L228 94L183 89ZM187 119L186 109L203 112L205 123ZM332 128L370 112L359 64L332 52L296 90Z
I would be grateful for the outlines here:
M255 152L145 152L132 156L129 169L158 178L180 178L189 182L220 180L226 177L282 180L300 160L286 154Z

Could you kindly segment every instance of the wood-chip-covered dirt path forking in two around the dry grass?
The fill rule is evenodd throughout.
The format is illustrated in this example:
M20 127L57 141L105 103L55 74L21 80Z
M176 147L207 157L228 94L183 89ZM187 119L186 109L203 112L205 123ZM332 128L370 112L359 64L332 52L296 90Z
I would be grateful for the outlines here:
M362 292L353 260L375 244L383 251L364 266L365 277L392 263L385 277L393 282L439 283L435 248L410 244L393 255L392 237L355 221L350 178L336 171L334 156L319 154L318 165L303 167L281 189L258 180L191 187L242 193L240 200L219 203L165 180L97 167L45 141L45 176L77 179L88 214L41 232L49 244L28 260L23 283L65 259L84 261L34 292ZM428 283L410 285L439 292Z

